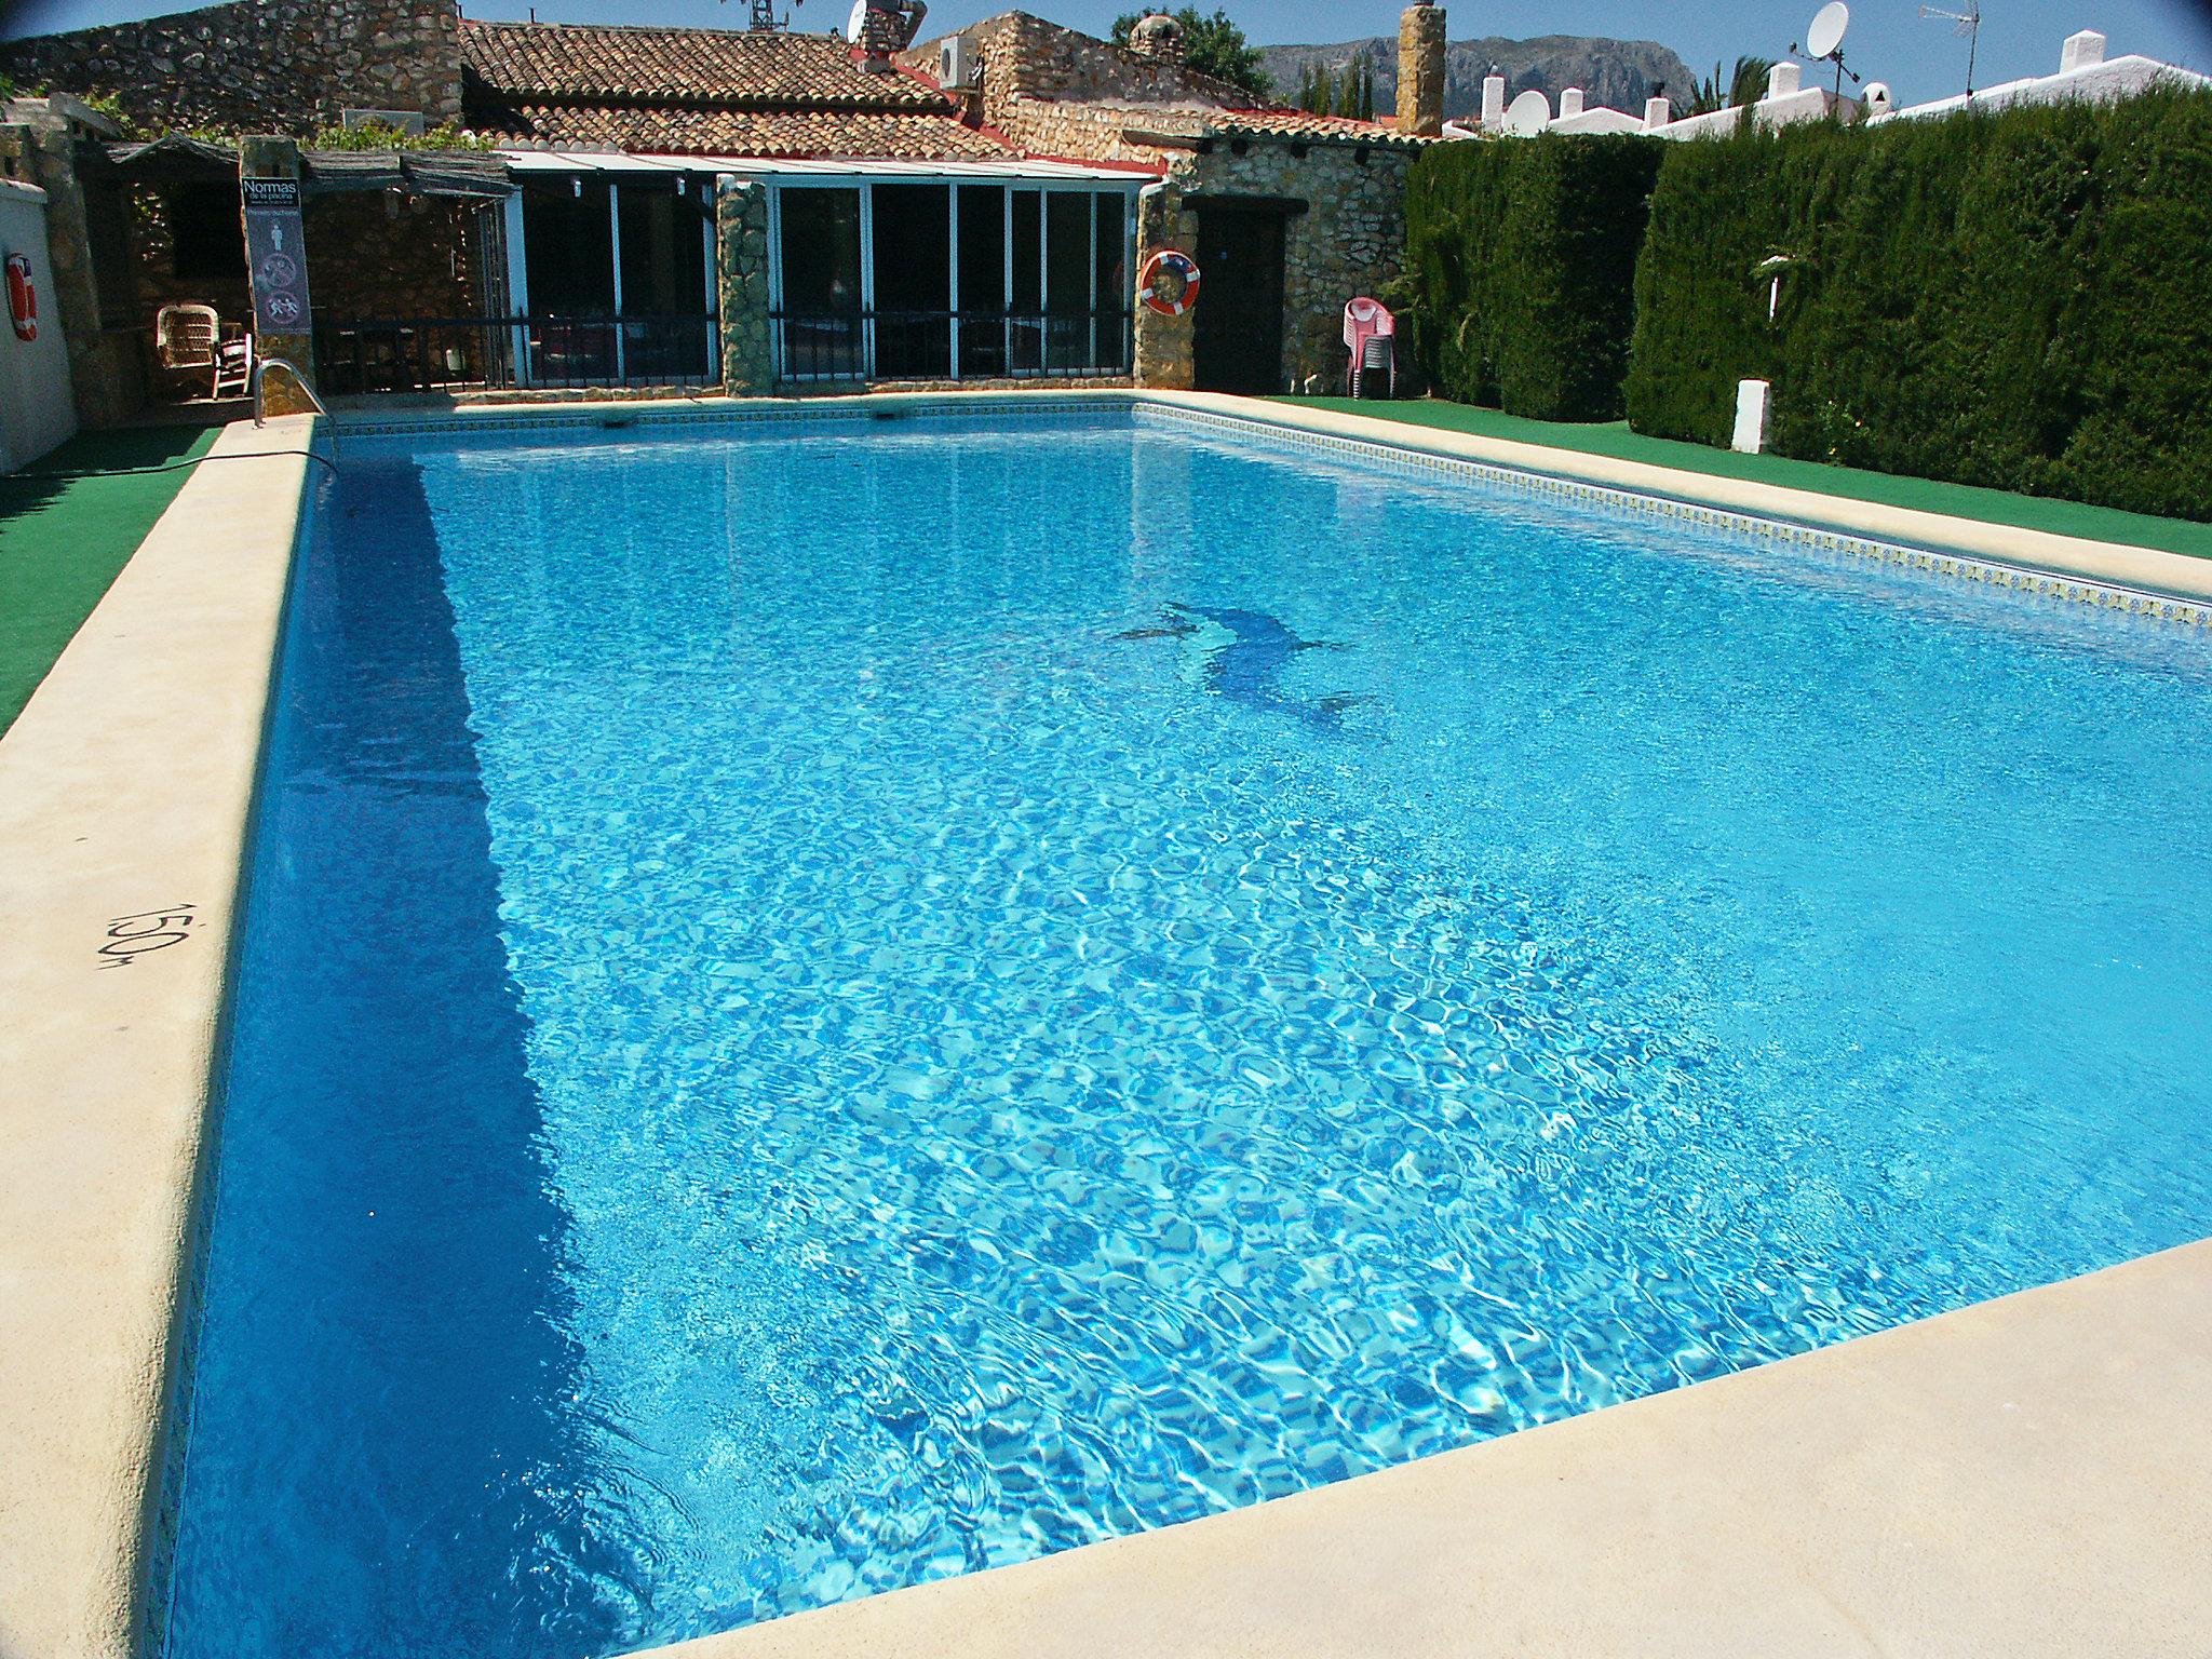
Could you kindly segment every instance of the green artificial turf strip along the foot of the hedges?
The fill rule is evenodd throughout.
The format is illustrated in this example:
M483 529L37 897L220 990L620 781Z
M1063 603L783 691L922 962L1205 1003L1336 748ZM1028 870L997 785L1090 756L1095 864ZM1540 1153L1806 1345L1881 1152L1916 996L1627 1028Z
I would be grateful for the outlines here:
M1971 518L1982 524L2017 524L2028 531L2081 535L2093 542L2124 542L2128 546L2154 546L2166 553L2188 553L2190 557L2212 560L2212 524L2199 524L2185 518L2121 513L2115 507L2086 507L2081 502L2062 502L2048 495L2013 495L2002 489L1944 484L1933 478L1865 473L1851 467L1825 467L1816 460L1790 460L1787 456L1739 456L1734 449L1708 449L1705 445L1679 442L1674 438L1646 438L1641 431L1630 431L1626 420L1608 420L1601 425L1528 420L1524 416L1500 414L1498 409L1473 409L1464 403L1438 400L1376 403L1363 398L1354 403L1352 398L1274 398L1274 403L1287 403L1303 409L1363 414L1378 420L1405 420L1413 427L1467 431L1478 438L1551 445L1553 449L1575 449L1586 456L1639 460L1652 467L1679 467L1686 473L1743 478L1754 484L1807 489L1818 491L1820 495L1880 502L1882 507L1911 507L1922 513L1949 513L1951 518Z

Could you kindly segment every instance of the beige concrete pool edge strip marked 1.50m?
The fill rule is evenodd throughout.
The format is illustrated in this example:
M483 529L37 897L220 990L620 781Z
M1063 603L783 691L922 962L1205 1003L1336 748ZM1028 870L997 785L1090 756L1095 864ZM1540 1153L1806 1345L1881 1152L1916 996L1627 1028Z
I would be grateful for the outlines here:
M310 442L310 418L228 427L0 737L9 1659L144 1646L173 1338ZM150 914L192 920L117 920ZM168 933L181 938L155 942Z

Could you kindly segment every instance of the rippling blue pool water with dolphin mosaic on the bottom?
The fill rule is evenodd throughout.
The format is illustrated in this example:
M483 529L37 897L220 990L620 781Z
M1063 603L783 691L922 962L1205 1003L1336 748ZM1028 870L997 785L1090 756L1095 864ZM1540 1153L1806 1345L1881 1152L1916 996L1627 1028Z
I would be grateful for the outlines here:
M166 1648L622 1652L2208 1234L2208 734L2203 633L1168 420L349 438Z

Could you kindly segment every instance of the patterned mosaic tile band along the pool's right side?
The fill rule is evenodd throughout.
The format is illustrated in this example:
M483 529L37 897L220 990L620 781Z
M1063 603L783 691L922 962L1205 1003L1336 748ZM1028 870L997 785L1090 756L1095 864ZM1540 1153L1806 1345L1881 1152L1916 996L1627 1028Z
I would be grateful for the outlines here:
M1913 571L1927 571L1931 575L1947 575L1962 582L1984 582L1989 586L2000 586L2000 588L2020 588L2024 593L2039 593L2055 599L2073 599L2077 604L2095 604L2108 611L2126 611L2130 615L2157 617L2161 622L2183 622L2199 628L2212 626L2212 599L2179 599L2170 593L2148 593L2143 588L2126 588L2110 582L2095 582L2090 577L2077 577L2077 575L2053 575L2051 571L2035 571L2022 564L2004 564L2002 560L1984 560L1971 553L1936 553L1922 546L1878 542L1867 535L1851 535L1849 531L1827 531L1816 524L1794 524L1781 518L1759 518L1756 513L1739 513L1728 507L1679 502L1668 495L1646 495L1641 491L1619 489L1615 484L1586 484L1577 478L1553 478L1548 473L1531 473L1517 467L1498 467L1493 462L1469 460L1464 456L1438 456L1427 449L1407 449L1400 445L1371 442L1365 438L1345 438L1329 431L1283 427L1276 425L1274 420L1219 414L1214 409L1186 409L1179 405L1139 403L1137 420L1214 427L1219 431L1237 431L1241 436L1263 438L1267 442L1281 442L1294 449L1323 449L1340 456L1358 456L1360 460L1378 462L1402 471L1442 473L1447 478L1502 484L1506 489L1515 489L1531 495L1555 495L1573 502L1608 507L1615 511L1644 513L1648 518L1672 518L1683 524L1741 531L1745 535L1756 535L1767 542L1790 542L1796 546L1814 549L1818 553L1840 553L1847 557L1878 560L1882 564L1900 564Z

